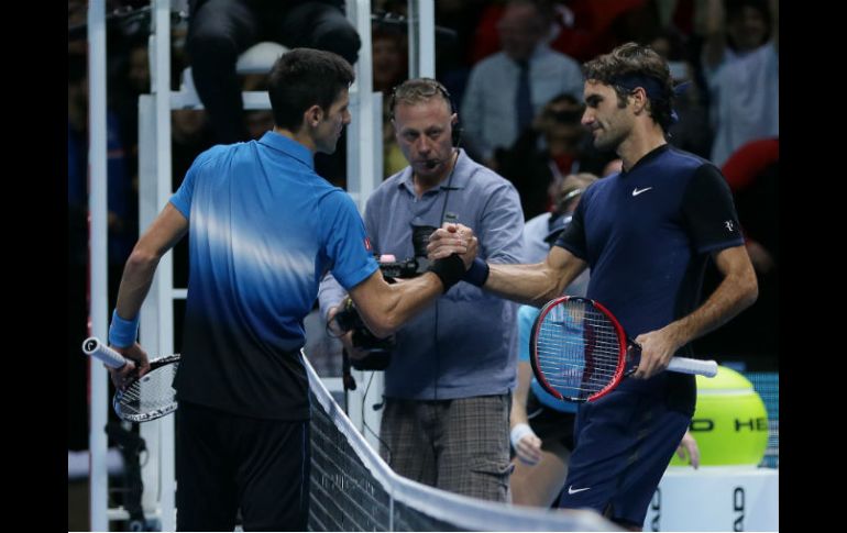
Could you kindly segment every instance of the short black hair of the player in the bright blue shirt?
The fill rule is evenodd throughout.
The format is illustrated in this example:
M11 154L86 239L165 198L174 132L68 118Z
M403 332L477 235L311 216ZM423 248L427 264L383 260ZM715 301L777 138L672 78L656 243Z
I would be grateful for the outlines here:
M353 67L338 54L312 48L286 52L274 64L267 82L274 123L298 132L307 109L317 104L329 111L354 79Z

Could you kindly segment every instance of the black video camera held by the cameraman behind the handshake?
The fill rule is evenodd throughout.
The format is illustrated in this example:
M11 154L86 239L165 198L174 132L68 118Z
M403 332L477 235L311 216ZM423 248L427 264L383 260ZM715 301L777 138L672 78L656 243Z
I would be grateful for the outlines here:
M430 225L411 226L411 244L415 249L415 256L404 260L393 260L393 256L382 256L380 259L380 270L386 281L394 282L395 279L409 279L420 276L429 268L427 259L427 244L429 235L436 231ZM353 346L367 352L367 355L360 359L351 359L351 365L356 370L385 370L392 360L392 351L394 351L394 336L380 338L367 329L355 304L346 297L341 309L332 319L338 329L344 333L353 332Z

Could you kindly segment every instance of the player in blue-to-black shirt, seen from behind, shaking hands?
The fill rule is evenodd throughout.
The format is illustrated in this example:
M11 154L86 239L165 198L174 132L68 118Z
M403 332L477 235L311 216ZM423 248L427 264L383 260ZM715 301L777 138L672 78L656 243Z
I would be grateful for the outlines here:
M180 531L232 531L239 509L245 531L306 531L310 410L299 349L324 273L385 336L465 271L452 255L388 285L353 201L315 173L315 153L334 152L350 123L353 78L336 54L284 54L268 82L274 130L200 154L127 263L109 343L135 363L112 371L118 386L148 369L135 343L139 310L160 258L190 235L174 382ZM468 252L468 240L451 235L453 252Z

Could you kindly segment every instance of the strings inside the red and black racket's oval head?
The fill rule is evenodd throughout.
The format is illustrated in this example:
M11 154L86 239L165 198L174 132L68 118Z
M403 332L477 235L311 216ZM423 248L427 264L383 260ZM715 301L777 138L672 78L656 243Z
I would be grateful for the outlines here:
M550 309L538 331L536 351L547 382L565 398L587 400L618 373L617 330L603 312L582 301Z

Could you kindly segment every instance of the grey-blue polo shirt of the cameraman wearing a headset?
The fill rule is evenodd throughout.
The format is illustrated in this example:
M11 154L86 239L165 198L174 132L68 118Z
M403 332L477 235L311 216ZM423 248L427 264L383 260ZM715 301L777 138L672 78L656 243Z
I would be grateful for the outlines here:
M448 184L450 191L448 195ZM441 212L473 229L488 263L524 262L524 213L515 187L460 151L452 179L415 193L406 167L369 198L365 226L374 251L398 260L415 255L413 225L440 226ZM331 276L321 284L326 312L343 297ZM503 395L515 387L517 306L464 281L396 333L385 396L418 400Z

